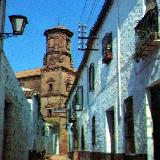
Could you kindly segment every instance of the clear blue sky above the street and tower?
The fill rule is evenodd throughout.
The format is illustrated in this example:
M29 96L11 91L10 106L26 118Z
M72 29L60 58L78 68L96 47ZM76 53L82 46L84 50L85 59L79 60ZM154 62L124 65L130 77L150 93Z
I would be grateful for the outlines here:
M22 36L4 42L5 54L15 72L41 67L46 51L44 31L60 25L74 33L71 44L74 67L78 67L83 52L78 51L78 24L87 24L89 32L104 0L7 0L5 31L11 32L9 15L28 18Z

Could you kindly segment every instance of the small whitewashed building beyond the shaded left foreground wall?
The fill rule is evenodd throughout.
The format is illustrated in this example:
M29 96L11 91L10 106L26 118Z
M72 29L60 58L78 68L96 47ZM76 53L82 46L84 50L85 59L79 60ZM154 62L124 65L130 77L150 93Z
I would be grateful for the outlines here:
M33 90L22 88L30 104L29 123L29 150L30 152L46 155L58 154L57 131L49 123L46 123L40 112L40 96Z

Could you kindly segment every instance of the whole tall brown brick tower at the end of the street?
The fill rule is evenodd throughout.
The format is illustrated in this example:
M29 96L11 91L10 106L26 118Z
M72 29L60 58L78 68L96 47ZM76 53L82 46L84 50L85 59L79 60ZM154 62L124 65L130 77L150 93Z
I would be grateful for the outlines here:
M41 113L57 127L59 154L67 154L65 101L74 81L70 40L73 33L57 26L44 32L46 54L41 69Z

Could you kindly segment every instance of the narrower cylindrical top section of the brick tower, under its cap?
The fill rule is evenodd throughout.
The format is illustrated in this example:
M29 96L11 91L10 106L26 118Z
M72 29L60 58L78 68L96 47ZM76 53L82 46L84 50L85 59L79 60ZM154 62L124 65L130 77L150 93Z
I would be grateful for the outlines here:
M71 68L70 42L73 33L62 26L57 26L46 30L44 35L46 36L45 67L49 69L58 66Z

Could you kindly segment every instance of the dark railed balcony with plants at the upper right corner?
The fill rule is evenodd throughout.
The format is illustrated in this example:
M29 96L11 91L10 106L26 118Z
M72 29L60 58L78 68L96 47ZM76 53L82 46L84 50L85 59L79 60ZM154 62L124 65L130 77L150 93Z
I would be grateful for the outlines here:
M158 30L157 7L148 11L135 28L136 32L136 60L153 53L160 45Z

